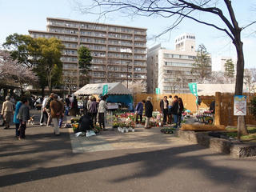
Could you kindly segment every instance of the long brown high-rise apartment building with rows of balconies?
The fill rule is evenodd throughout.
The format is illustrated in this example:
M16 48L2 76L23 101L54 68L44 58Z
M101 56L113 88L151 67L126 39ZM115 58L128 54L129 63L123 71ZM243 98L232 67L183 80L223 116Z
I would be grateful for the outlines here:
M80 46L88 47L93 57L90 83L146 82L146 29L47 18L46 31L29 30L29 33L33 38L54 37L62 41L63 81L74 90L79 86Z

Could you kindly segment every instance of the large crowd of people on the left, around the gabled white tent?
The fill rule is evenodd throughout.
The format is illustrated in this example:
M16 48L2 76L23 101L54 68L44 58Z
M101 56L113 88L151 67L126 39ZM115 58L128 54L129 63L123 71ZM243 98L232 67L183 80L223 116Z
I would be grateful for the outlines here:
M12 101L10 96L6 96L6 101L2 103L1 115L3 118L2 126L4 129L10 128L10 123L13 117L15 124L15 136L20 140L26 137L25 130L27 122L31 120L30 109L33 109L37 104L41 104L41 117L39 120L40 126L54 126L54 134L60 134L62 122L65 115L78 116L82 115L80 119L81 130L90 130L96 122L99 123L102 130L106 130L106 96L96 100L95 97L90 96L80 98L82 107L78 107L78 99L74 95L66 95L62 99L58 94L50 94L44 98L38 99L22 98L20 101ZM34 104L31 105L31 100ZM86 123L82 123L86 122ZM89 122L89 123L87 123ZM90 123L92 122L92 123Z

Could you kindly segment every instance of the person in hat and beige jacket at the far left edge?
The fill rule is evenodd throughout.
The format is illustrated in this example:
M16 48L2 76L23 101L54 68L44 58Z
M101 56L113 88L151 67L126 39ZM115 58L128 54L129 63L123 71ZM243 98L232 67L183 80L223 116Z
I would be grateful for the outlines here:
M11 116L14 113L14 104L10 102L10 96L6 96L6 101L2 103L2 118L5 122L5 129L10 128Z

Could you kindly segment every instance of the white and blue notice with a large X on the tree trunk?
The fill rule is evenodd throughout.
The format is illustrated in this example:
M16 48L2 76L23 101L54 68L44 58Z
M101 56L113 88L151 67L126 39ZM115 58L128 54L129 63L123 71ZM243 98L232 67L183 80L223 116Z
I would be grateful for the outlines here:
M234 115L246 115L245 95L234 95Z

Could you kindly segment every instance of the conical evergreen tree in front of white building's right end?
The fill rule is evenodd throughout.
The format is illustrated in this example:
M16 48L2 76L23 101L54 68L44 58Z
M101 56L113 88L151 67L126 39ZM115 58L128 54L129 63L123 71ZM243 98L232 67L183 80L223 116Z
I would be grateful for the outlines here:
M211 59L206 47L201 44L198 46L197 56L194 58L193 68L191 74L198 76L198 81L203 81L210 78L211 74Z

